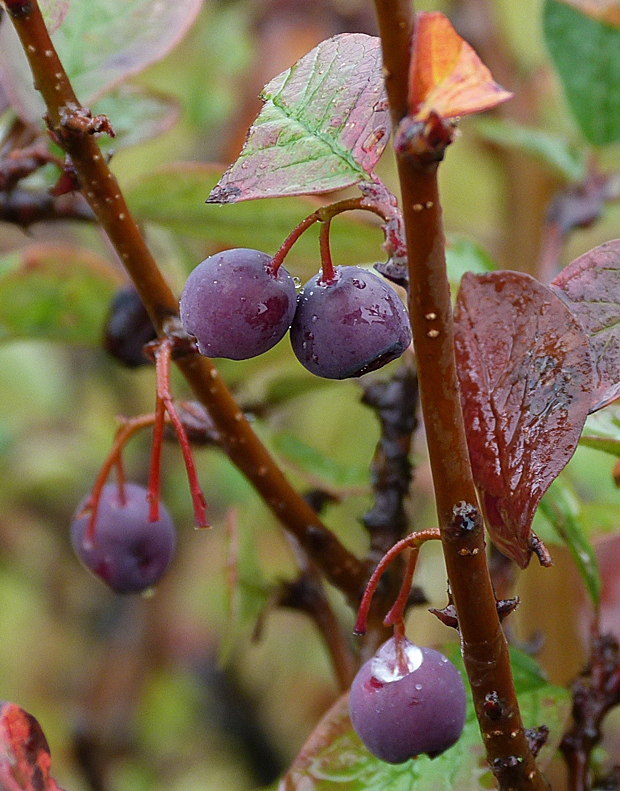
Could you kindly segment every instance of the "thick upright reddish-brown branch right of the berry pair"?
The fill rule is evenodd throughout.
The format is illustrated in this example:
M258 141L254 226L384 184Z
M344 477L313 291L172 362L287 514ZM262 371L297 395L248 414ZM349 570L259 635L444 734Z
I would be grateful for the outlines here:
M375 0L386 88L397 128L407 113L410 0ZM409 251L410 317L418 364L420 401L437 514L463 656L487 760L502 791L543 791L523 730L508 646L502 632L485 556L454 358L450 289L437 185L437 162L397 153ZM501 701L499 716L484 710L487 695ZM498 713L496 712L496 715Z

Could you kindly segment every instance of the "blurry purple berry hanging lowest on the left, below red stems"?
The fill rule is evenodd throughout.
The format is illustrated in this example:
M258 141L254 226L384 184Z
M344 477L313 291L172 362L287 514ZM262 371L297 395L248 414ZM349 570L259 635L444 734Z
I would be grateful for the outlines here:
M89 514L78 516L88 498L80 503L71 522L71 543L77 556L116 593L139 593L162 576L174 553L176 532L166 509L159 506L159 519L149 522L147 490L125 484L125 504L116 484L101 492L95 537L86 531Z

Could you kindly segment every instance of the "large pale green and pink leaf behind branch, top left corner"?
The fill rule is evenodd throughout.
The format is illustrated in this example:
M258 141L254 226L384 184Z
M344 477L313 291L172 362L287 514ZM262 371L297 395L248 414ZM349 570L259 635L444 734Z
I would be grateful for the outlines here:
M202 0L71 0L52 41L76 95L92 104L164 57L188 31ZM13 25L0 25L0 82L22 120L39 123L43 101L32 85Z

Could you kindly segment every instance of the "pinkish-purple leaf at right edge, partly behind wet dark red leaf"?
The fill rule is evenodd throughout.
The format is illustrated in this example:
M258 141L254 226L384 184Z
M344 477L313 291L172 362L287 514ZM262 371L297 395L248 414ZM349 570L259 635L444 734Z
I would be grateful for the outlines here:
M550 285L590 341L594 390L590 412L620 397L620 239L576 258Z

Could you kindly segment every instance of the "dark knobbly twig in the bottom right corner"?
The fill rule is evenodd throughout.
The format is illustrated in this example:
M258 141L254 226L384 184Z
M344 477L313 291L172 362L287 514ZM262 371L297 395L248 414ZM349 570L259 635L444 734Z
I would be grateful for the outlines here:
M620 646L612 634L592 636L588 666L572 685L573 725L560 750L570 791L589 791L590 758L607 713L620 704Z

